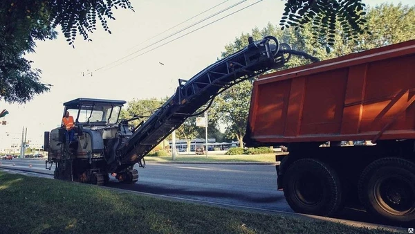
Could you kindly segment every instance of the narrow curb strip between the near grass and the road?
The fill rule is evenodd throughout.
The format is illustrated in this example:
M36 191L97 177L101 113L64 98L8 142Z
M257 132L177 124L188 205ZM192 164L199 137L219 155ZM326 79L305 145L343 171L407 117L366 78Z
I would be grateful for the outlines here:
M36 174L46 174L49 176L53 176L53 174L48 174L45 172L35 172L35 171L31 171L31 170L25 170L25 169L17 169L17 168L6 168L3 166L0 166L0 168L3 169L7 169L7 170L17 170L17 171L22 171L22 172L33 172ZM82 183L85 186L95 186L92 184L88 184L88 183ZM106 186L100 186L100 188L104 188L107 190L115 190L118 192L128 192L128 193L135 193L138 195L145 195L145 196L149 196L149 197L158 197L160 199L168 199L171 201L185 201L187 203L196 203L196 204L204 204L204 205L211 205L211 206L218 206L218 207L227 207L227 208L232 208L234 210L245 210L245 211L254 211L254 212L259 212L259 213L266 213L266 214L279 214L279 215L286 215L286 216L291 216L291 217L296 217L299 219L308 219L311 221L328 221L328 222L337 222L340 224L345 224L347 226L356 226L356 227L360 227L360 228L371 228L371 229L385 229L387 231L394 231L394 232L400 232L400 233L407 233L407 228L400 228L400 227L396 227L396 226L386 226L386 225L380 225L380 224L370 224L370 223L365 223L365 222L356 222L356 221L351 221L351 220L347 220L347 219L335 219L335 218L330 218L330 217L322 217L322 216L317 216L317 215L306 215L306 214L300 214L300 213L291 213L291 212L286 212L286 211L280 211L280 210L268 210L268 209L264 209L264 208L252 208L249 206L237 206L237 205L232 205L232 204L222 204L219 202L213 202L213 201L199 201L196 199L187 199L187 198L183 198L183 197L172 197L172 196L167 196L167 195L157 195L157 194L153 194L153 193L148 193L148 192L138 192L138 191L133 191L133 190L127 190L127 189L120 189L120 188L111 188L111 187L106 187Z

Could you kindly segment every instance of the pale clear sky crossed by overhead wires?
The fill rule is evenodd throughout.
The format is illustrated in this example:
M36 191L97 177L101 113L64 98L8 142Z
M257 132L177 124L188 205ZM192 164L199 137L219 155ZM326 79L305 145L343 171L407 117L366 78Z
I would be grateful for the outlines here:
M179 78L189 80L216 62L225 45L232 43L241 33L250 33L255 27L264 28L268 22L279 24L285 3L281 0L228 0L225 3L224 0L130 1L135 12L114 9L116 20L107 20L111 34L105 32L98 21L98 30L90 35L93 41L86 42L78 35L75 48L68 45L59 30L57 39L37 42L36 53L27 55L27 58L34 61L33 68L42 70L41 82L53 87L48 93L35 96L23 105L0 101L0 111L8 109L10 112L0 118L7 121L7 125L0 125L0 147L1 140L21 136L22 127L27 127L28 139L42 145L44 132L60 125L63 103L68 100L83 97L128 102L172 96ZM392 1L363 2L375 6ZM393 2L414 4L413 0ZM222 4L199 15L219 3ZM196 24L237 3L240 4ZM232 12L236 13L225 17ZM199 16L194 17L196 15ZM186 22L181 24L183 21ZM216 22L210 24L213 21ZM192 24L194 26L183 30ZM205 26L207 24L210 25ZM169 28L172 29L158 35ZM183 31L164 39L180 30ZM195 31L190 33L192 30ZM165 44L177 37L181 38ZM161 39L164 40L158 42ZM133 55L126 57L130 54Z

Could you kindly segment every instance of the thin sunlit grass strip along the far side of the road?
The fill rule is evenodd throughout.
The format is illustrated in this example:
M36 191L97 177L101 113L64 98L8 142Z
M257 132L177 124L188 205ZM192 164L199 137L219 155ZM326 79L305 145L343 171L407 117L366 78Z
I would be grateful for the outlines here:
M275 163L275 154L241 154L241 155L177 155L173 161L172 156L146 156L148 162L255 162Z

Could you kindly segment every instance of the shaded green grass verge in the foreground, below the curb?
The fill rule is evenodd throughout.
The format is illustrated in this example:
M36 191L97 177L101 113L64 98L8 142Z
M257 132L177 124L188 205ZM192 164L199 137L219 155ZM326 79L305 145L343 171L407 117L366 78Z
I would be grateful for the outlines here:
M391 233L0 172L0 233Z

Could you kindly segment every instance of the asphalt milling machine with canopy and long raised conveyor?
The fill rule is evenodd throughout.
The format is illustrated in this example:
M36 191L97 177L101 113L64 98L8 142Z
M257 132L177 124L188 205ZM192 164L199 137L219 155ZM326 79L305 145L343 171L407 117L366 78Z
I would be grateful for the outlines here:
M187 118L203 114L219 93L234 84L283 67L292 54L317 61L311 55L291 50L288 44L280 44L275 37L258 41L250 37L248 46L240 51L208 66L190 80L179 79L174 95L133 129L129 128L129 121L142 116L119 119L124 100L77 98L65 102L64 113L70 111L75 118L75 142L68 142L62 127L45 132L46 169L50 170L55 163L55 179L104 185L109 174L116 174L122 183L136 183L138 171L133 166L138 163L144 168L144 157Z

